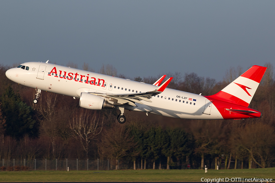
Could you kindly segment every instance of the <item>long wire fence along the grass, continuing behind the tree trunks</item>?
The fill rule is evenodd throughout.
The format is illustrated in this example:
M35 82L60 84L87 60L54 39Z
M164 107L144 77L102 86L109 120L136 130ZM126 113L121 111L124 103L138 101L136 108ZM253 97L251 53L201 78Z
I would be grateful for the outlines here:
M234 168L234 161L231 161L230 169ZM6 170L114 170L116 169L116 161L111 159L32 159L32 160L5 160L0 161L0 167L3 166ZM224 167L224 162L219 166L219 169L226 169ZM146 169L152 169L152 162L146 162ZM166 169L166 162L161 164L162 169ZM209 166L207 166L210 168ZM27 168L27 169L26 169ZM141 168L140 160L136 161L136 168ZM159 163L156 162L156 169L159 168ZM170 166L171 169L187 169L187 164L185 165L174 165ZM194 165L191 165L194 168ZM237 168L240 168L240 162L238 161ZM244 168L248 168L247 163L244 164ZM134 164L132 161L118 161L118 169L134 169ZM143 164L144 169L144 164ZM215 164L211 163L211 169L215 169Z

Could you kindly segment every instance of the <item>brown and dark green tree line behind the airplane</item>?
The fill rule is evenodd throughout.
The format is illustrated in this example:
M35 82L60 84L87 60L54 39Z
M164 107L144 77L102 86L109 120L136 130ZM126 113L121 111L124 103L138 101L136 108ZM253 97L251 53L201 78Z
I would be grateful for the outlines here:
M68 63L76 67L76 64ZM275 166L275 80L268 68L249 107L262 118L245 120L184 120L128 112L119 124L119 110L88 110L79 100L42 91L33 104L35 91L5 77L9 66L0 66L0 160L48 158L108 158L116 165L134 169L265 168ZM92 70L87 63L84 70ZM248 69L248 68L247 68ZM230 68L222 81L196 73L169 73L169 88L212 95L245 70ZM101 74L126 78L112 65ZM160 76L132 80L153 84Z

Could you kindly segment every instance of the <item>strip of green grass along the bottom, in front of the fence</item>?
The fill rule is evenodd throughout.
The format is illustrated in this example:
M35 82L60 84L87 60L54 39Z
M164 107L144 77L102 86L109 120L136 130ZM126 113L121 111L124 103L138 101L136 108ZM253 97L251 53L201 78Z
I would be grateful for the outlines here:
M272 178L275 168L237 170L2 171L0 182L196 181L201 178ZM230 181L229 181L230 182Z

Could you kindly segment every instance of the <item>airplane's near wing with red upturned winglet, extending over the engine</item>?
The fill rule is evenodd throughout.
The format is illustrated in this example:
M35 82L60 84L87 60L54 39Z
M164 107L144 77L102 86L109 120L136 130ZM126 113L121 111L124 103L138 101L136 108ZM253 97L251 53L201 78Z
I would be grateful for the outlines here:
M141 102L142 100L146 102L152 102L150 99L153 96L162 93L172 79L173 77L170 77L167 81L165 81L162 85L160 85L157 89L153 91L147 91L142 93L130 93L130 94L109 94L109 93L105 93L105 94L91 93L91 94L101 96L105 100L107 100L109 103L112 103L114 105L122 105L122 104L128 103L131 106L136 106L135 102L139 104L143 104Z

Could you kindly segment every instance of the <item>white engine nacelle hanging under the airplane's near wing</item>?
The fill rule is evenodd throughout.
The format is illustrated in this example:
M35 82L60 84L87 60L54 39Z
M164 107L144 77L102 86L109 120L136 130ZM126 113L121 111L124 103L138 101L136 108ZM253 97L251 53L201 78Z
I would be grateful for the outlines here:
M101 110L102 108L114 108L114 105L106 102L104 98L85 92L82 92L80 94L79 106L85 109L93 110Z

